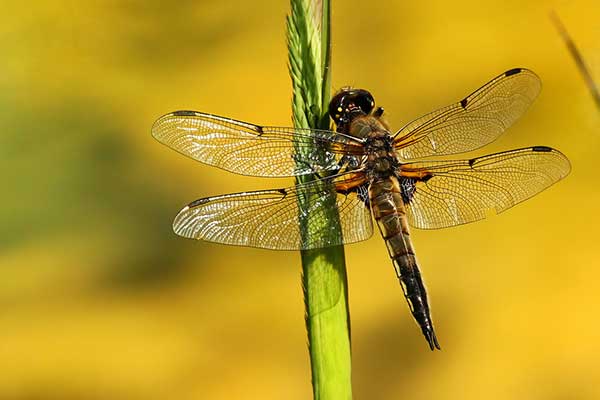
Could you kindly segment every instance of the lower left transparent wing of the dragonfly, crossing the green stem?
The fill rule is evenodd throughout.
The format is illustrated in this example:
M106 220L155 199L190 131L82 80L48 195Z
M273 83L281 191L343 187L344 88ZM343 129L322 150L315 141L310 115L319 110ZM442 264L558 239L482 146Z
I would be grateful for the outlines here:
M196 200L173 222L180 236L275 250L314 249L368 239L371 213L362 173L346 173L277 190ZM301 211L299 203L305 206ZM340 227L327 224L337 211ZM300 226L308 226L306 235Z

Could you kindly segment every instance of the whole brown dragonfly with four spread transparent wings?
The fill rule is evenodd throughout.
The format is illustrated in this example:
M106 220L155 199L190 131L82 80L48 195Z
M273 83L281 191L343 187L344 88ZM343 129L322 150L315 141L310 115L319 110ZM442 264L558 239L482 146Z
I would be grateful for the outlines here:
M540 90L534 72L514 68L395 133L371 93L355 88L330 101L335 131L171 112L152 127L168 147L237 174L298 182L193 201L177 214L173 230L228 245L307 250L367 240L374 219L414 320L430 349L440 349L410 227L447 228L501 213L566 177L571 167L547 146L452 161L435 157L491 143Z

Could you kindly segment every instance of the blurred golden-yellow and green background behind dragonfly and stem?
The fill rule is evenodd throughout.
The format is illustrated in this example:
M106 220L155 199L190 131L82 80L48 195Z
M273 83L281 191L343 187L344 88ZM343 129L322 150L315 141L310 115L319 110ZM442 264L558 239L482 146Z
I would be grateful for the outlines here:
M476 154L571 160L508 212L414 231L442 351L383 241L346 248L360 399L600 398L600 113L549 19L600 79L597 1L334 1L333 83L393 127L527 67L544 88ZM299 254L176 237L207 195L282 187L150 136L196 109L289 125L286 1L38 1L0 17L0 399L311 397Z

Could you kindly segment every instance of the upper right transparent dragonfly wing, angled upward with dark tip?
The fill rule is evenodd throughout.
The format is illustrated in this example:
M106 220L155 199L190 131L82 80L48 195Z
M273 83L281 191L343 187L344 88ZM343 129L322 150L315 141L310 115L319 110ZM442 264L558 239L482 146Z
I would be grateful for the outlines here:
M458 103L410 122L395 135L394 146L404 159L478 149L510 127L540 89L540 79L533 72L512 69Z

